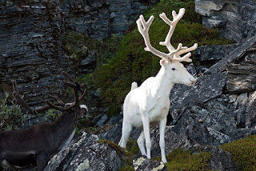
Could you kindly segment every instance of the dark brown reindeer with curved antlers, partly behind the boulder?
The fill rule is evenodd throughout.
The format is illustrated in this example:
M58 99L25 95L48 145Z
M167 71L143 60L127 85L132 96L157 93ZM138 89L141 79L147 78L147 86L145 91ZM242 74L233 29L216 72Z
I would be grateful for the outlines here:
M57 100L57 103L46 101L46 106L31 109L18 92L16 82L13 82L14 101L16 103L24 106L32 113L54 108L61 110L62 115L52 123L35 125L30 129L0 132L0 165L2 167L22 169L36 164L38 171L41 171L45 169L47 161L55 153L65 149L70 144L78 120L86 113L86 105L79 105L79 102L86 95L86 87L74 82L66 72L62 72L62 74L68 80L65 85L70 86L74 92L74 101L69 103L68 106L63 102L67 97L66 93L58 91L55 95L49 95L49 97ZM82 91L80 97L78 96L79 91Z

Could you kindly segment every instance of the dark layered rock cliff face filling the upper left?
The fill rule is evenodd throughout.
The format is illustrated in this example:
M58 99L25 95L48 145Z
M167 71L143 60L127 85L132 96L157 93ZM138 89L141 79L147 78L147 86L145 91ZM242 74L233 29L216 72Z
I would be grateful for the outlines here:
M155 2L0 0L0 97L11 91L11 81L16 80L30 105L44 105L46 93L63 88L62 70L75 75L63 50L67 32L100 40L124 34L142 10ZM95 58L89 54L82 70L89 70Z

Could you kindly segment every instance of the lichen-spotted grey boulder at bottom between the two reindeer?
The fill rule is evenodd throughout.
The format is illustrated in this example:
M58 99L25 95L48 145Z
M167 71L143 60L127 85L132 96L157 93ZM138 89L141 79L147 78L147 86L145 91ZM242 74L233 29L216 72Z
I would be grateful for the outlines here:
M82 132L66 149L50 159L45 171L112 171L120 166L121 160L114 149L98 143L97 135Z

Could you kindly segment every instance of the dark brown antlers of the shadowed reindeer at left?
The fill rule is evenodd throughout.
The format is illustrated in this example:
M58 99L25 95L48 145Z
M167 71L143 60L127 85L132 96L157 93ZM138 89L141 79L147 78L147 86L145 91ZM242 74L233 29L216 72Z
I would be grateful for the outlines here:
M61 111L66 111L71 108L73 108L76 105L79 105L79 102L82 101L82 99L86 96L86 85L81 85L79 82L73 81L73 79L70 77L69 74L67 74L65 71L62 71L62 74L67 78L68 82L65 82L64 84L71 87L74 91L74 102L71 103L70 106L64 107L66 104L64 103L65 99L68 97L68 93L66 93L64 90L58 89L58 92L48 94L48 97L51 97L57 101L57 103L52 103L50 101L46 101L47 105L42 106L38 109L32 109L29 105L26 104L26 101L24 101L21 97L21 94L18 91L18 86L16 84L16 81L13 82L13 88L14 88L14 103L18 105L22 105L24 108L26 108L29 112L37 114L38 112L42 112L46 109L55 108ZM83 89L83 91L81 90ZM78 91L82 91L82 95L78 96Z

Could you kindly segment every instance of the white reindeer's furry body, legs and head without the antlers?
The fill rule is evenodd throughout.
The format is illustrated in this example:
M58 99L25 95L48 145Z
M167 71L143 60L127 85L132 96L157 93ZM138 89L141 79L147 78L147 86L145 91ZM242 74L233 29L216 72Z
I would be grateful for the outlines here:
M186 71L179 62L164 62L156 77L146 79L137 89L132 89L124 101L122 138L119 145L126 148L126 142L133 127L142 128L138 138L138 147L143 155L150 158L150 128L159 124L162 161L166 161L165 155L165 128L166 116L170 109L170 90L174 83L193 85L195 79ZM173 67L176 70L171 70ZM144 135L145 134L145 135ZM146 151L144 148L146 140Z

